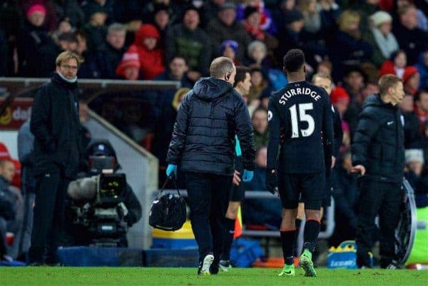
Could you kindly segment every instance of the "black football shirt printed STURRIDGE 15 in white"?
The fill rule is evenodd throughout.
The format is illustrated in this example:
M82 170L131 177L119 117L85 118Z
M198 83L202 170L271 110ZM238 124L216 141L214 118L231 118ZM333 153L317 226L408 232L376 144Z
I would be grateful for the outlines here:
M307 81L288 83L270 96L267 119L267 170L325 171L325 156L333 153L333 125L330 98L323 88Z

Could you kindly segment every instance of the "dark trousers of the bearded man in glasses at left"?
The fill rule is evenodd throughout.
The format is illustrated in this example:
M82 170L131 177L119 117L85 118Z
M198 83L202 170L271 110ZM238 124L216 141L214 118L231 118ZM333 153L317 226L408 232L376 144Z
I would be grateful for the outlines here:
M36 200L29 250L30 263L58 262L56 251L63 229L68 183L70 180L59 169L58 172L36 178Z

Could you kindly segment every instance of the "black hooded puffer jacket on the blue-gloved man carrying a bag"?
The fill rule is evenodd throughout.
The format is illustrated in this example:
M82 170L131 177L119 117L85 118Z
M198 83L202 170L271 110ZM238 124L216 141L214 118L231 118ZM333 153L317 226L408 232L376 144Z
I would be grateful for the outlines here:
M233 175L235 134L244 168L254 170L253 126L243 98L226 81L202 78L178 110L167 162L181 163L185 172Z

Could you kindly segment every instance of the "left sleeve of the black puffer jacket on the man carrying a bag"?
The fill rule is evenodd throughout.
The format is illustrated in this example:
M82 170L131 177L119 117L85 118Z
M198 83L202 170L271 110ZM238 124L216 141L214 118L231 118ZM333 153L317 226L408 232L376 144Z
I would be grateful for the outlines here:
M185 145L185 138L187 136L188 125L189 125L189 111L190 111L190 101L189 97L191 96L192 91L190 91L178 109L177 118L175 119L173 136L168 149L168 154L166 157L166 162L178 165L181 160L181 155L183 154L183 148Z

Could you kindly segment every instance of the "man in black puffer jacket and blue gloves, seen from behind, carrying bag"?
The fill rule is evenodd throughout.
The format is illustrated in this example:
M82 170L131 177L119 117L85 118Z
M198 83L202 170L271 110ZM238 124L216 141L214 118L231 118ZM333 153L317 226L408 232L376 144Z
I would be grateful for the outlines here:
M198 275L218 273L223 220L229 203L235 160L235 134L243 157L243 181L253 178L255 147L250 115L233 90L236 68L230 58L215 58L210 77L195 83L183 99L168 150L166 175L185 173L190 220L199 247Z

